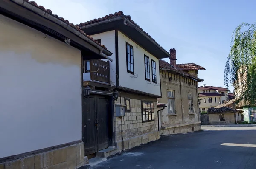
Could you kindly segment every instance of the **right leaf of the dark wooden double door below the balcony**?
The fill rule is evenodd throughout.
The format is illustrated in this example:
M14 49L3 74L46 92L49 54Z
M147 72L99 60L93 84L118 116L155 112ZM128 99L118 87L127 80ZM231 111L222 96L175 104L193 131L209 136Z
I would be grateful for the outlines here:
M105 97L97 98L97 141L98 141L98 151L106 149L109 146L109 108L108 99Z

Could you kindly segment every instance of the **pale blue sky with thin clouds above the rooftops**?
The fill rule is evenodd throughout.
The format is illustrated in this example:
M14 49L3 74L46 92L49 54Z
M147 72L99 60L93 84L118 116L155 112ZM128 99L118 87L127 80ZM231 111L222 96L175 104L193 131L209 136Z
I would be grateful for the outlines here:
M35 0L70 23L116 11L148 32L163 48L177 50L177 63L196 63L206 84L224 87L224 66L232 31L256 21L254 0ZM165 59L169 62L169 59ZM230 87L233 90L233 87Z

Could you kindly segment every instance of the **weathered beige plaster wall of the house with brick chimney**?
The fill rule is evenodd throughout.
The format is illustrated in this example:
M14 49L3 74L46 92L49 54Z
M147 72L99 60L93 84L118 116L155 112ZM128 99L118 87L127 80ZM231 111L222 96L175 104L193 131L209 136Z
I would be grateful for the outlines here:
M169 114L168 107L161 111L161 133L166 134L170 132L164 132L163 130L168 127L180 127L177 130L177 133L183 132L185 125L195 124L199 122L198 117L198 93L197 93L197 82L186 79L182 76L176 76L173 73L166 71L160 71L161 76L161 86L162 86L162 98L159 98L159 103L165 103L168 106L167 90L174 90L175 95L175 112L176 114ZM172 77L171 82L169 82L169 77ZM189 82L191 85L189 86ZM194 113L189 113L189 104L188 104L188 93L192 93L193 96L193 108ZM200 124L199 124L200 126ZM198 129L200 130L200 129ZM184 130L185 131L185 130ZM194 130L196 131L196 130ZM191 132L191 127L190 127ZM171 134L171 133L170 133Z

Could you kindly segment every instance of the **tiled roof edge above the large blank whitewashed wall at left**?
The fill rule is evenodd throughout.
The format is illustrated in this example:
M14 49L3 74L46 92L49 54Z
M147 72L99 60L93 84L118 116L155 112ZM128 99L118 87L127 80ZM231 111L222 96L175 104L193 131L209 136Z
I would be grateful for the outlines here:
M96 40L94 40L92 37L90 37L89 35L85 34L84 31L82 31L77 25L74 25L73 23L70 23L68 20L65 20L63 17L58 17L58 15L53 14L52 11L50 9L45 9L44 6L40 6L38 5L35 1L29 1L29 0L24 0L30 4L32 4L33 6L41 9L42 11L46 12L47 14L52 15L53 17L67 23L68 25L70 25L72 28L76 29L77 31L79 31L81 34L84 34L84 36L88 37L90 40L92 40L93 42L95 42L96 44L100 45L102 48L105 48L104 45L101 45L99 42L97 42Z

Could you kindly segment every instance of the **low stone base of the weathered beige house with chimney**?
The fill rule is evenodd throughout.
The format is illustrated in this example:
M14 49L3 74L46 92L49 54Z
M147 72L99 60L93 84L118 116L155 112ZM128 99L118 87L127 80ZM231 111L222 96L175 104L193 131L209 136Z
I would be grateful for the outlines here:
M201 130L201 123L180 125L175 127L168 126L168 127L165 127L164 129L161 128L160 132L161 132L161 135L187 133L187 132L193 132L192 127L194 127L194 132L199 131Z

